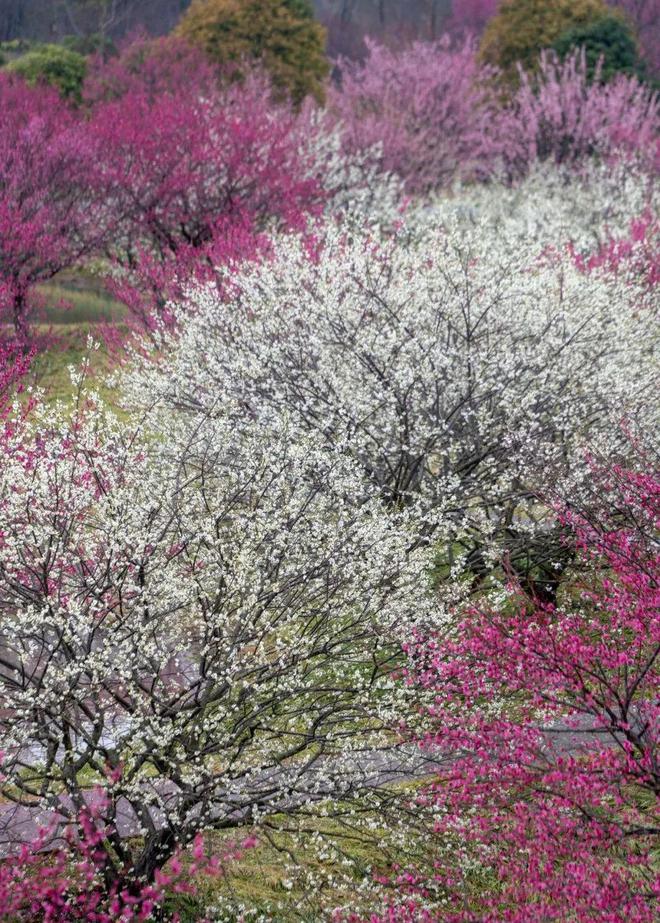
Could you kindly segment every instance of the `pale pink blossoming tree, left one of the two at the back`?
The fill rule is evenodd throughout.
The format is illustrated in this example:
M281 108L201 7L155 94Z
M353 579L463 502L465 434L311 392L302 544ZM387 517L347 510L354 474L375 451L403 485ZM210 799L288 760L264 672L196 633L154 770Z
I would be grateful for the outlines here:
M348 153L380 146L386 171L410 192L424 193L456 178L488 175L497 156L492 111L475 44L452 47L448 37L392 51L368 42L363 64L340 62L341 85L328 105L343 127Z

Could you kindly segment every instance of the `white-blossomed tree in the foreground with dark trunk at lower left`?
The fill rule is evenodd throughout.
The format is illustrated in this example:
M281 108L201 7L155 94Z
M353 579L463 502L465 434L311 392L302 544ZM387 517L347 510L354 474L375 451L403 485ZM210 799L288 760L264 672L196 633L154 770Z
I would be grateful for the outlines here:
M104 874L130 887L199 830L396 778L391 672L414 626L442 621L406 515L285 421L154 402L138 425L80 388L72 417L9 430L0 474L17 823L75 819L101 786Z

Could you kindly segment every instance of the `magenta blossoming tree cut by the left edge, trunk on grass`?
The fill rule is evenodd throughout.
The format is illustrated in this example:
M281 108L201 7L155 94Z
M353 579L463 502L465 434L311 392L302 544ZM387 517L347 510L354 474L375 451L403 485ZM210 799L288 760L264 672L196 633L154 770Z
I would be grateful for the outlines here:
M94 252L108 231L90 194L95 146L56 91L0 74L0 320L27 340L35 286Z

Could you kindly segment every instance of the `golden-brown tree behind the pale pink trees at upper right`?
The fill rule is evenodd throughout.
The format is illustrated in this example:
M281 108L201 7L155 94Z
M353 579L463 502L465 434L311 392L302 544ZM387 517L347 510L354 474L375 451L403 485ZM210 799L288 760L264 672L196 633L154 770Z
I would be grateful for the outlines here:
M484 31L480 57L515 81L520 63L534 70L539 54L570 29L611 15L605 0L503 0Z

